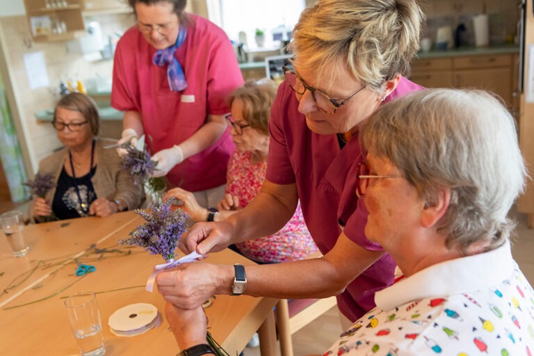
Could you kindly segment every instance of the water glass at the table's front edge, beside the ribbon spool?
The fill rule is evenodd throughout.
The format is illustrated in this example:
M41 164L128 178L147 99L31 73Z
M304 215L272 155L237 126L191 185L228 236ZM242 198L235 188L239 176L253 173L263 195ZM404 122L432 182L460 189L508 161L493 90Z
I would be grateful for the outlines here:
M95 292L74 293L65 300L65 307L80 355L104 355L106 349Z

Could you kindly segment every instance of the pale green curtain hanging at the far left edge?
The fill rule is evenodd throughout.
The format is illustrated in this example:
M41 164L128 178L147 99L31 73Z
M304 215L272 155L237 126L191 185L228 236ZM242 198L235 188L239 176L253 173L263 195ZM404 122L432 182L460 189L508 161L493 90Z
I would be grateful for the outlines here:
M27 180L22 152L13 125L11 113L0 75L0 159L3 172L8 181L9 192L13 202L23 202L29 199L29 190L22 184Z

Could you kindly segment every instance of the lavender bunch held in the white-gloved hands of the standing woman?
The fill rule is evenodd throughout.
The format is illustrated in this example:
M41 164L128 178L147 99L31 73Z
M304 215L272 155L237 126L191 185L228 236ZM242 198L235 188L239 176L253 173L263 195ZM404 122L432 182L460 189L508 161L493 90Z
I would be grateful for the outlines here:
M135 184L145 186L145 190L155 202L161 203L166 188L165 178L151 177L157 162L152 161L152 155L145 147L144 136L138 140L136 147L130 143L125 143L121 148L126 150L126 154L121 157L120 168L130 173Z

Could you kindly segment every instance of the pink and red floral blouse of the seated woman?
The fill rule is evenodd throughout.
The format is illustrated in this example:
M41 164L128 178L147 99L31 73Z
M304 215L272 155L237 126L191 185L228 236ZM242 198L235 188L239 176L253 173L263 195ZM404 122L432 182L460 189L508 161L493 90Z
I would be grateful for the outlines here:
M239 206L246 207L259 193L266 169L266 161L252 163L251 152L236 151L228 163L226 193L239 197ZM279 232L236 243L236 247L249 259L269 263L303 259L317 250L302 217L300 203Z

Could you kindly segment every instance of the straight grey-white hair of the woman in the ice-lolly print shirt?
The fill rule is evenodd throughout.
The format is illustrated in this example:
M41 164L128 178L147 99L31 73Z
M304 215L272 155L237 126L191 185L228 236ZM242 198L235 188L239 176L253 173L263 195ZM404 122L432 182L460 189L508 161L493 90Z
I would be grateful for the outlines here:
M360 135L364 147L396 165L426 202L438 189L451 189L439 222L448 248L465 253L471 243L487 240L491 249L508 238L508 211L527 174L515 120L500 99L482 90L414 92L375 111Z

